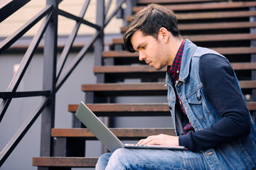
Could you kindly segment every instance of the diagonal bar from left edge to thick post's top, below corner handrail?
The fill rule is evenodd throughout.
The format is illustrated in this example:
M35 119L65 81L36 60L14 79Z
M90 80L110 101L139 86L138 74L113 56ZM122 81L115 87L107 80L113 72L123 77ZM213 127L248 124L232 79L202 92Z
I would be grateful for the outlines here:
M0 55L3 53L6 49L11 47L11 45L16 42L19 38L21 38L29 29L31 29L33 26L35 26L38 21L41 21L41 19L46 16L48 13L50 13L52 6L46 6L46 8L43 8L39 13L36 14L33 18L31 18L28 22L26 22L21 28L18 28L12 35L10 35L8 38L3 40L0 43Z

